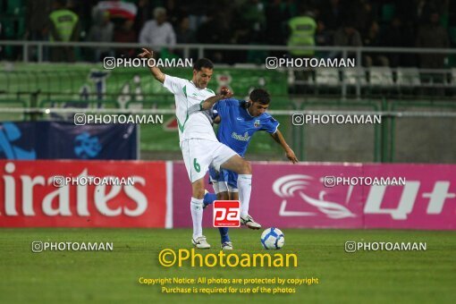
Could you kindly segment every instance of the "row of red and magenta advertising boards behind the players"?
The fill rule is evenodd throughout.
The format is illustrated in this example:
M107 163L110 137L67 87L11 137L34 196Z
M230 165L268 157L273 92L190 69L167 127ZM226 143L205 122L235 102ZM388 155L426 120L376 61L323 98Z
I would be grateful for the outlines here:
M0 166L2 227L191 227L191 189L182 162L0 161ZM249 213L264 226L283 228L455 230L455 169L255 162ZM55 187L55 175L132 176L135 183ZM375 182L382 177L393 184ZM337 178L343 184L331 184ZM210 207L204 225L212 226Z

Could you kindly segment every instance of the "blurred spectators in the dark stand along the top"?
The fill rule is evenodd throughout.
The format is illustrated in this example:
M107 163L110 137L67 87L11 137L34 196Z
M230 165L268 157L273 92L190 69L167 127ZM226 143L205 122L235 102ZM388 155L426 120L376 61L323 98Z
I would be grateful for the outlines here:
M0 3L10 1L18 0ZM25 10L23 33L15 39L139 42L160 45L155 50L162 57L182 56L182 50L173 47L176 44L439 48L456 44L456 3L449 0L40 0L28 1ZM48 59L74 61L73 52L54 47ZM100 47L84 56L99 61L106 55L136 53L129 47ZM255 63L271 53L212 50L205 55L215 62ZM288 55L337 54L294 50ZM364 55L363 65L441 68L444 58L371 53Z

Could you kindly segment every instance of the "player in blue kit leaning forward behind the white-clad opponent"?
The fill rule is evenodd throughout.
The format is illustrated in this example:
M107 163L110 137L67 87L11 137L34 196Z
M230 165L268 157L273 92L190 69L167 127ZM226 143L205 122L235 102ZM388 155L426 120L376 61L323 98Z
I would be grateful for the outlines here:
M266 113L270 101L270 96L265 89L254 89L249 95L249 101L230 98L216 102L214 112L218 114L218 117L215 118L215 122L220 121L217 139L243 157L253 134L257 131L266 131L282 146L291 163L295 164L298 159L283 139L283 135L278 129L280 123ZM215 199L239 199L237 173L226 169L217 172L210 167L209 174L215 194L207 193L205 195L205 207L213 203ZM241 203L241 224L245 224L250 229L261 228L261 225L249 215L249 204ZM228 228L219 228L219 231L222 238L222 249L232 249Z

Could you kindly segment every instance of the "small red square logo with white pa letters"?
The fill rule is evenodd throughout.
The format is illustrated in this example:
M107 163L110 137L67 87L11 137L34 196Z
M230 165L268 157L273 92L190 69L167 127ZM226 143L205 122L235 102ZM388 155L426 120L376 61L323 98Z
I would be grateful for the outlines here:
M241 226L241 203L239 200L215 200L214 227Z

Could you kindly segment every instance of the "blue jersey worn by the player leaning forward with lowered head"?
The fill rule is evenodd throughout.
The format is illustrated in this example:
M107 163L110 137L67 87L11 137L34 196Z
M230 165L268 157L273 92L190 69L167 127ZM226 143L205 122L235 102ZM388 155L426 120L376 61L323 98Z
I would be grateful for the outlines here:
M250 139L256 131L275 133L279 126L279 122L270 114L263 113L254 117L247 112L245 106L245 101L237 99L222 99L214 106L215 111L222 118L217 139L240 156L244 156Z

